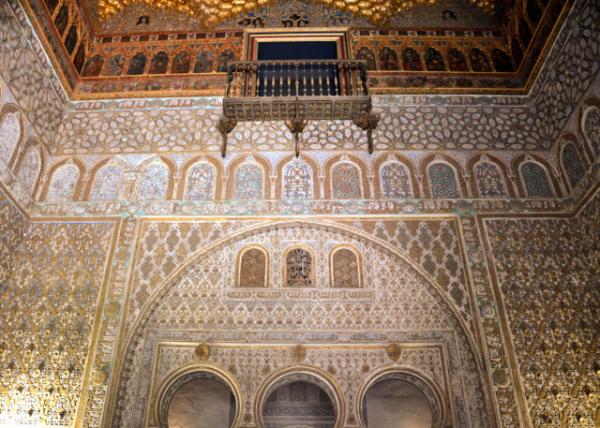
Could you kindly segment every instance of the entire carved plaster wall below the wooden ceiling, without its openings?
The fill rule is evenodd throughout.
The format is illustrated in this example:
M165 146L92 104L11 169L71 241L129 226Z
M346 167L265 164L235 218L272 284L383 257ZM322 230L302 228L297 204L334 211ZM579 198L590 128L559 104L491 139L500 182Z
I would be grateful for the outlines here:
M7 423L99 427L117 410L117 397L124 397L120 415L141 415L131 425L136 426L153 417L150 401L161 381L192 362L218 365L239 380L248 400L243 416L250 422L262 381L279 369L309 365L343 384L348 426L360 422L355 411L360 382L382 367L420 371L444 394L460 397L450 412L457 426L467 426L462 423L467 420L486 428L493 426L489 420L510 428L599 423L598 367L590 352L597 348L592 328L599 300L593 283L597 199L572 218L593 199L600 180L594 2L576 2L527 97L376 97L384 117L373 157L354 127L312 124L303 135L302 159L311 165L316 199L293 201L280 199L283 165L291 159L291 136L280 124L240 126L233 150L221 160L220 139L212 129L218 98L65 104L17 3L3 3L0 13L2 30L9 29L0 35L7 38L0 43L0 115L14 107L22 122L17 153L9 165L0 164L6 193L0 199L0 326L8 326L0 335L0 415L12 418ZM43 171L30 193L19 171L36 140ZM586 168L574 186L560 163L569 143ZM373 199L322 199L331 181L326 165L342 151L360 165L363 192ZM233 194L227 193L228 180L235 177L232 165L248 155L262 159L264 194L270 199L223 200ZM381 197L379 167L394 159L408 167L415 198ZM186 167L196 160L214 167L213 200L184 200ZM508 196L478 197L474 166L482 160L498 166ZM159 161L170 171L167 200L140 201L143 171ZM461 198L429 198L426 166L438 161L456 165ZM529 161L547 168L556 197L526 197L519 166ZM104 162L123 168L117 200L89 201ZM73 186L73 196L45 202L57 189L51 177L61 165L79 171L74 186L62 180L67 187L60 192L71 194ZM282 225L294 219L299 221ZM281 288L286 240L315 247L316 289ZM330 248L323 243L328 240L360 250L363 288L328 288ZM256 243L269 249L269 288L234 289L231 260ZM204 262L211 266L206 272ZM225 275L215 274L222 266ZM393 276L405 281L386 282ZM206 299L214 307L204 297L198 304L206 309L187 306L184 293L206 290L213 293ZM381 302L392 291L406 297L397 306L408 305L406 310L361 306L362 300ZM164 302L152 306L162 292ZM167 319L169 303L181 317ZM144 318L150 307L155 311ZM542 319L540 308L554 315ZM435 317L418 328L402 324L406 314L419 320L426 309L439 324L428 324ZM320 315L311 318L307 310ZM141 319L148 324L140 327ZM180 319L193 334L179 330ZM302 320L317 333L286 330L277 324L281 319L282 325ZM330 334L348 325L360 334ZM391 327L377 331L378 325ZM232 333L240 329L246 334ZM284 345L271 346L274 342ZM402 350L396 359L386 352L392 342ZM199 343L210 344L204 359L196 352ZM301 361L294 351L299 343L306 351ZM323 343L335 346L325 349ZM122 374L143 381L127 388ZM119 388L130 395L118 395ZM144 401L131 406L132 397Z

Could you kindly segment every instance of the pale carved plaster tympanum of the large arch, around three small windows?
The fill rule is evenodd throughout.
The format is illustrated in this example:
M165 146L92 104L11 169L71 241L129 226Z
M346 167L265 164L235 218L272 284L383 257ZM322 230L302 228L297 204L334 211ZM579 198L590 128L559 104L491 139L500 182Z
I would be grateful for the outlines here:
M321 269L317 270L316 290L301 290L312 294L279 295L279 298L273 298L276 295L257 298L255 294L231 294L232 290L235 291L235 266L228 264L227 260L240 248L254 244L273 251L278 242L300 240L314 245L324 238L330 244L315 246L317 262L322 258L320 253L327 253L336 243L353 245L361 252L365 277L364 288L359 290L360 296L349 294L347 290L338 292L329 289L327 278L321 278ZM277 260L278 256L271 254L271 259ZM278 278L280 270L273 269L272 272L268 291L285 293L277 286L282 281ZM324 298L320 292L338 292L339 295L332 297L329 294ZM255 226L253 230L223 238L189 257L171 273L146 302L132 327L124 353L125 361L130 362L135 361L136 356L142 358L147 355L148 343L157 338L156 334L164 336L176 330L198 334L211 331L216 336L233 331L259 331L259 342L281 334L295 340L306 340L302 336L306 331L315 334L333 332L337 337L335 340L348 331L371 337L370 340L385 337L388 331L417 332L417 336L433 331L453 331L455 333L452 334L460 337L458 349L465 353L461 357L463 361L455 362L454 366L471 366L474 379L481 380L481 376L476 375L480 363L475 357L478 353L473 351L472 334L449 296L427 272L390 249L389 245L376 243L364 235L350 233L331 224L291 221L277 227ZM147 336L148 332L152 332L150 336ZM189 340L181 335L179 339ZM150 386L144 376L137 378L140 374L133 373L139 369L138 364L130 363L123 369L121 379L129 379L130 382L137 379L135 382L139 380L140 383L137 387L134 384L128 386L122 380L117 401L127 403L142 399L147 393L144 389ZM137 393L132 394L131 388ZM127 418L126 415L134 417L131 411L135 412L135 409L128 410L125 406L119 412L119 420Z

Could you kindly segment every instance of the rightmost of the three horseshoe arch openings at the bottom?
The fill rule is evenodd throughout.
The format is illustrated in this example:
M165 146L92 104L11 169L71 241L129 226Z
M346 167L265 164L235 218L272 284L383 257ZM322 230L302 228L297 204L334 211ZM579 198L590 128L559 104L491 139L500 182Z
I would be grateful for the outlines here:
M443 412L427 381L392 371L372 379L361 394L361 416L367 428L439 428Z

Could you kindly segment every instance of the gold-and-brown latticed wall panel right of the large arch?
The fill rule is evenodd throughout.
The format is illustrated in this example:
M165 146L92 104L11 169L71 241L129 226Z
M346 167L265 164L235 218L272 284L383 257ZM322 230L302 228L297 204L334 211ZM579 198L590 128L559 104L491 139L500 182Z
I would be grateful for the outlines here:
M599 213L596 196L574 219L485 220L534 426L600 422Z

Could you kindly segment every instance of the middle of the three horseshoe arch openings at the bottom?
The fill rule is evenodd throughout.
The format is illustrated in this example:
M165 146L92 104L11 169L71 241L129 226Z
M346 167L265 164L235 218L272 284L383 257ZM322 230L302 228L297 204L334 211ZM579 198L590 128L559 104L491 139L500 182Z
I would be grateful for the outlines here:
M338 401L331 386L305 372L289 373L265 391L260 412L265 428L334 428Z

